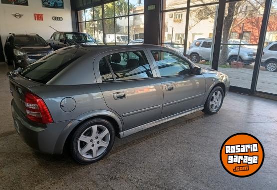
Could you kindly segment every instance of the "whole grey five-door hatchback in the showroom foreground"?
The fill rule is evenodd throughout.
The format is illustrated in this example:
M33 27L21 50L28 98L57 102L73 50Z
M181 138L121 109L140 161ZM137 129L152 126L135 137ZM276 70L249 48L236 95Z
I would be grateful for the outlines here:
M68 143L80 164L102 159L115 136L200 110L215 114L229 90L227 75L155 45L69 46L7 76L19 135L49 154Z

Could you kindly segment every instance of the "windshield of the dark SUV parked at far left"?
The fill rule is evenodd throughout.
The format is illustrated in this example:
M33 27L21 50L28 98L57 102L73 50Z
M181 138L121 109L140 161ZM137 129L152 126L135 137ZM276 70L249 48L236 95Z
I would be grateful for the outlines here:
M47 46L46 41L39 36L15 36L14 45L20 47Z

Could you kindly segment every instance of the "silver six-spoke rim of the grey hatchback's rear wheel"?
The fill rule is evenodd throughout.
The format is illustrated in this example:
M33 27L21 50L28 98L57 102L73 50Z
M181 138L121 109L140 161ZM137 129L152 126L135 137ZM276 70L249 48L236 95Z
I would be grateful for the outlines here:
M103 125L88 127L78 139L79 154L85 158L100 156L110 142L110 132Z

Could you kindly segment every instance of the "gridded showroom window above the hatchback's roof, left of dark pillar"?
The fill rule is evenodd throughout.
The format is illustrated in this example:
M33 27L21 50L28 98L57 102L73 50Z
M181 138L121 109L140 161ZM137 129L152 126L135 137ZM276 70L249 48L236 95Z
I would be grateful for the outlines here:
M128 44L144 37L144 0L116 0L77 11L78 30L96 43Z

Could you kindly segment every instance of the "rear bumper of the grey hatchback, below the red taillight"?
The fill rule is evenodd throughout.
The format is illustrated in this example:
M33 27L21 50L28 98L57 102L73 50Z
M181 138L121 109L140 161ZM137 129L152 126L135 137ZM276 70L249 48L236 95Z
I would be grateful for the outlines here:
M28 121L19 111L14 100L11 101L11 112L14 128L24 142L31 148L48 154L61 154L63 145L59 145L60 134L71 122L61 121L50 124L37 124Z

